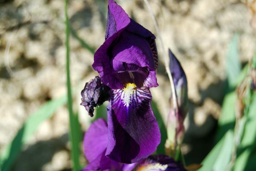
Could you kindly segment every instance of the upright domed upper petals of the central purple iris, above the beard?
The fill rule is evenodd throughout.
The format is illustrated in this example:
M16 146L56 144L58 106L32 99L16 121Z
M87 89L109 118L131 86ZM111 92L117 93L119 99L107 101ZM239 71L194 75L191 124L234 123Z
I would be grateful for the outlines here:
M126 38L123 39L124 37ZM129 42L129 40L131 41ZM118 54L116 53L117 51ZM115 57L116 59L114 59ZM129 72L137 72L136 70L122 67L127 64L137 65L140 69L145 67L146 71L143 75L146 74L146 78L155 74L154 71L158 64L155 36L130 19L116 2L109 0L105 42L96 50L93 68L98 71L104 84L112 89L121 89L123 80L120 80L118 78L119 75L116 76L116 73L123 72L124 69ZM144 86L157 87L156 79L151 80L151 82L152 84L144 84Z

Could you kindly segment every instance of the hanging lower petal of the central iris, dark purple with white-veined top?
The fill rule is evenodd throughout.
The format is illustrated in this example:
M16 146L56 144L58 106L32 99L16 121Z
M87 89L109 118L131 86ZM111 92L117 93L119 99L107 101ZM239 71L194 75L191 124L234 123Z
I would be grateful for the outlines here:
M121 163L134 163L151 155L160 143L160 130L153 115L151 93L142 87L124 103L125 90L113 90L108 106L106 155Z

